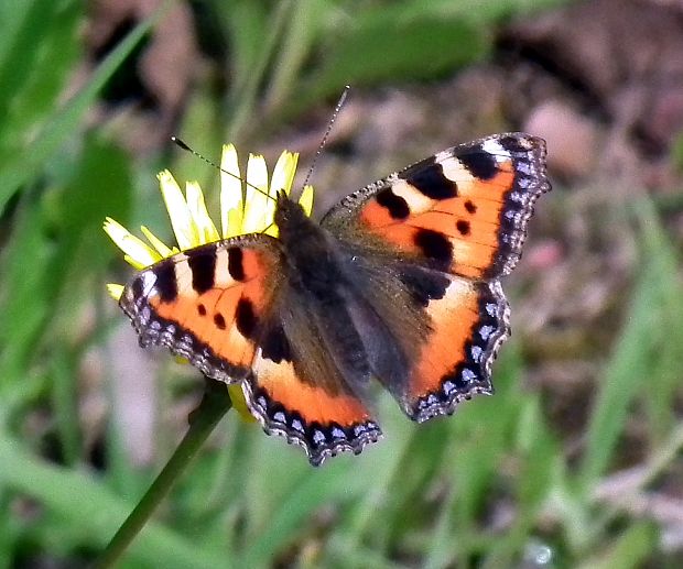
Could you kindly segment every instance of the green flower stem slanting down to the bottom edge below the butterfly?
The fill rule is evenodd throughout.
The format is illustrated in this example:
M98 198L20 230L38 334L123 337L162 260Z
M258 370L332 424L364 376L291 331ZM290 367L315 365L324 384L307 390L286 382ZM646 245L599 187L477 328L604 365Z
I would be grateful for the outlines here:
M225 383L207 379L204 398L189 415L189 428L183 440L142 500L111 538L96 563L97 569L112 567L121 557L231 406L232 402Z

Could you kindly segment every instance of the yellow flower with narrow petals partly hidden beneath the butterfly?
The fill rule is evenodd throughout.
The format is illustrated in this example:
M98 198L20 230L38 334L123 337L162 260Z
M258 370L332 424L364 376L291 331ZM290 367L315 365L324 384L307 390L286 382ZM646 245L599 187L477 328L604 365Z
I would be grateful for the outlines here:
M263 156L250 154L245 182L240 175L235 146L224 145L220 160L220 232L208 215L199 185L196 182L187 182L183 195L177 182L167 169L159 173L156 177L177 247L166 245L144 226L140 228L140 231L147 242L133 236L111 218L105 220L104 229L123 251L123 259L137 270L173 256L180 251L221 239L256 232L278 237L278 227L273 223L274 198L281 189L290 194L297 160L299 154L284 151L275 164L269 184L268 167ZM299 203L310 216L313 209L312 186L304 187ZM110 283L107 285L107 291L118 300L123 286ZM254 420L247 409L240 386L230 385L228 390L235 408L240 415Z

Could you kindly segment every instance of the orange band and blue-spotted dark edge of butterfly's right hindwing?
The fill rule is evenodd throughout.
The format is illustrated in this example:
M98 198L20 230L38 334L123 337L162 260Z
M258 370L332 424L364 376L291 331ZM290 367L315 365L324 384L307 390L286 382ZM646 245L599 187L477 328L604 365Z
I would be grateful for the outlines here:
M403 406L422 423L455 411L476 393L492 393L490 368L509 333L508 304L498 281L453 277L427 308L432 332L410 372Z

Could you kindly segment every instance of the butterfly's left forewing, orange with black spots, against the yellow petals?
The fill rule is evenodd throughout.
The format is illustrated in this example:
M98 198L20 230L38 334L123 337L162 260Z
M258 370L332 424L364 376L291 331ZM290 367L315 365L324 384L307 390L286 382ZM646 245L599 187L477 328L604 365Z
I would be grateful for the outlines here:
M140 343L167 346L212 377L243 379L281 262L265 238L260 247L247 243L238 238L203 245L141 271L120 300Z

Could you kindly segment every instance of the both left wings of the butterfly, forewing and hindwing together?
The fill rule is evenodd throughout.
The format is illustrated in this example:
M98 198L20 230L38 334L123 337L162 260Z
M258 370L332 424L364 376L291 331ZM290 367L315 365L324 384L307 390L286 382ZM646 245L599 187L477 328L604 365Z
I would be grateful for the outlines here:
M120 306L142 347L165 346L205 375L240 383L263 429L303 446L317 466L381 433L289 288L285 262L263 234L202 245L139 272Z

